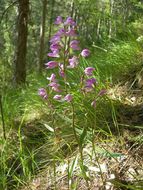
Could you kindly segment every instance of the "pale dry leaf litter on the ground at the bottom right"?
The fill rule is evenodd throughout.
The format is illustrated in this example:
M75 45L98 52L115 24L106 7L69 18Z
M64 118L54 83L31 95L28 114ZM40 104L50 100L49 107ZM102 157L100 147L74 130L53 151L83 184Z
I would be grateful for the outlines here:
M128 136L132 132L126 131ZM143 136L143 134L141 134ZM142 139L143 140L143 139ZM130 141L127 136L122 138L112 138L95 142L95 152L92 146L88 144L83 150L84 164L87 169L87 175L90 177L90 189L142 189L143 188L143 144L141 138ZM96 153L96 154L95 154ZM77 159L74 171L71 177L71 183L77 184L76 189L86 190L87 185L79 168L79 155L75 151L74 155L68 157L64 164L56 166L56 176L53 168L47 167L39 174L32 183L23 190L67 190L68 187L68 161L72 163ZM98 161L97 161L98 159ZM101 170L101 171L100 171ZM105 182L103 186L102 178Z

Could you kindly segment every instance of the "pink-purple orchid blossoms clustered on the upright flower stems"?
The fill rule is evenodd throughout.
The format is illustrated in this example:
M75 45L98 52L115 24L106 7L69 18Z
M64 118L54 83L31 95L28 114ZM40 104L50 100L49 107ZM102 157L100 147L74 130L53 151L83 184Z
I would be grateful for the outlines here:
M46 69L58 69L59 76L65 83L64 88L61 88L58 80L56 79L56 74L52 73L51 76L47 77L49 81L48 88L53 93L53 99L55 101L66 101L72 102L74 97L67 90L67 71L68 69L74 69L79 65L79 58L82 56L86 58L90 55L88 49L80 49L80 42L77 40L76 22L68 17L63 20L61 16L58 16L55 21L55 25L60 28L54 36L50 39L50 50L48 56L52 59L46 63ZM76 55L75 55L76 54ZM77 55L78 54L78 55ZM93 72L95 68L87 67L84 69L84 92L91 92L97 81L93 78ZM57 94L58 92L58 94ZM99 96L106 93L106 90L99 92ZM39 95L43 99L48 99L49 94L45 88L39 89ZM50 93L51 95L51 93ZM94 99L91 103L92 106L96 106L96 100Z

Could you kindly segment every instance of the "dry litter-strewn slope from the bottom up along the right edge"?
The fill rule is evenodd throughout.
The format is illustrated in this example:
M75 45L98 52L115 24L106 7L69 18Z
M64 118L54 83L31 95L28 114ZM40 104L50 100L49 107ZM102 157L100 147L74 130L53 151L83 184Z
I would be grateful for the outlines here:
M143 189L143 80L142 70L130 72L108 89L108 97L116 104L117 130L110 136L96 134L83 149L87 181L81 176L78 149L74 147L64 162L49 163L22 190L115 190ZM112 128L112 127L111 127ZM60 142L58 142L60 144ZM69 179L68 163L73 171Z

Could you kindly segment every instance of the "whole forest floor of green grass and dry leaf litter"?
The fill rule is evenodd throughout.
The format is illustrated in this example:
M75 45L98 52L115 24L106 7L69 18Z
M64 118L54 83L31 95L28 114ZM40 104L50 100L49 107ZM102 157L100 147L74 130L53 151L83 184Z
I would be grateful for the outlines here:
M91 95L81 104L77 94L75 124L83 159L71 105L54 102L53 112L37 95L49 73L29 74L24 88L8 86L3 96L7 139L0 140L0 190L143 189L142 49L122 42L93 54L86 64L96 68L97 93L106 88L107 94L96 108ZM2 137L2 126L0 130Z

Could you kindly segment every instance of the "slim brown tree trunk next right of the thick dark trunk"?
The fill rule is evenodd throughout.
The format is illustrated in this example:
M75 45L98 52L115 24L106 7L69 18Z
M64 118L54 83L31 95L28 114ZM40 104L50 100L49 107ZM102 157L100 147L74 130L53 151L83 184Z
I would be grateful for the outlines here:
M46 23L47 0L43 0L42 22L40 28L40 50L39 50L39 72L43 69L44 41L45 41L45 23Z

